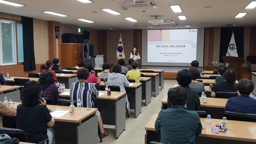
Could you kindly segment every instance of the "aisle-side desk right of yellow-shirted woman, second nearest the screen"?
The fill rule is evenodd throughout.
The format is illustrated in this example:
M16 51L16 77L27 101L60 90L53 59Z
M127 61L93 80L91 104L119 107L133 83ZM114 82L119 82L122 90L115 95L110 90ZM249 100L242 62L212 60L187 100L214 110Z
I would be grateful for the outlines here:
M159 94L159 73L141 72L140 74L151 77L151 94L157 96Z

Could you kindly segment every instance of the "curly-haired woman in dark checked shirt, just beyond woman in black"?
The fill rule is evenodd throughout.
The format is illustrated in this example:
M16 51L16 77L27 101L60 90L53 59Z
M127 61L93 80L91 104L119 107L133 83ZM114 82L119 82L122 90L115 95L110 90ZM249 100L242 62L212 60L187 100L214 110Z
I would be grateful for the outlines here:
M38 82L42 87L42 97L49 98L51 103L56 105L58 104L57 99L60 98L58 87L54 84L53 74L46 70L40 74Z

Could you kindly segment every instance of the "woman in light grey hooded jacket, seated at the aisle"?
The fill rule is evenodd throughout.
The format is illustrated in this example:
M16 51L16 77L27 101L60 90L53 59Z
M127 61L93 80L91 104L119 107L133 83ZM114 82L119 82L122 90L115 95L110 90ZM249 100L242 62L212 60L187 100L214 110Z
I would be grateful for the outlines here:
M108 75L108 86L119 86L120 87L120 92L126 92L124 87L129 86L129 82L126 79L125 75L120 74L122 72L122 68L120 64L114 64L112 66L112 74ZM126 97L126 108L128 110L128 113L130 114L130 103L128 101L128 96L125 94Z

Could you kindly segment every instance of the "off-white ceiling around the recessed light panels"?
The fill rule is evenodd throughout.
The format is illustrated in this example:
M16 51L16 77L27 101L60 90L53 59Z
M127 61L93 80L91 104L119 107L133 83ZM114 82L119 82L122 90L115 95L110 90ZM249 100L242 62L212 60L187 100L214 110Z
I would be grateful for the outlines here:
M163 20L175 20L175 24L162 24L160 29L166 28L185 28L185 24L190 24L192 28L201 28L201 22L204 27L224 27L226 24L237 22L237 26L256 26L256 8L244 9L250 0L154 0L157 9L142 10L122 10L118 8L118 2L124 0L93 0L93 3L82 3L77 0L9 0L25 4L26 6L16 7L6 4L0 4L0 12L38 18L42 20L54 20L63 24L71 24L86 28L109 30L109 26L122 29L149 29L146 26L150 18L158 16ZM114 1L114 2L113 2ZM137 0L139 2L141 0ZM147 0L144 0L147 1ZM151 0L152 1L152 0ZM174 13L169 5L179 4L183 12ZM204 8L204 6L212 6ZM111 8L121 15L113 15L100 9ZM61 14L69 15L68 17L54 16L41 11L50 10ZM98 12L98 13L92 13ZM234 18L239 12L248 12L243 18ZM179 20L177 16L186 15L187 20ZM125 17L131 17L138 22L130 22ZM77 19L84 18L94 21L95 23L82 22ZM134 27L134 24L137 27ZM157 25L154 26L159 29ZM114 29L114 28L113 28Z

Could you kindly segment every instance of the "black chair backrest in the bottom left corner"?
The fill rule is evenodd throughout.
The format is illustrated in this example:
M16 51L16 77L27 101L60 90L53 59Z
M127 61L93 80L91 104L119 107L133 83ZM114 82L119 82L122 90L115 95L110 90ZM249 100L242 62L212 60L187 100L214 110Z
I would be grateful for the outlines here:
M24 130L0 127L0 134L8 134L11 138L18 138L20 142L28 142L28 138Z

